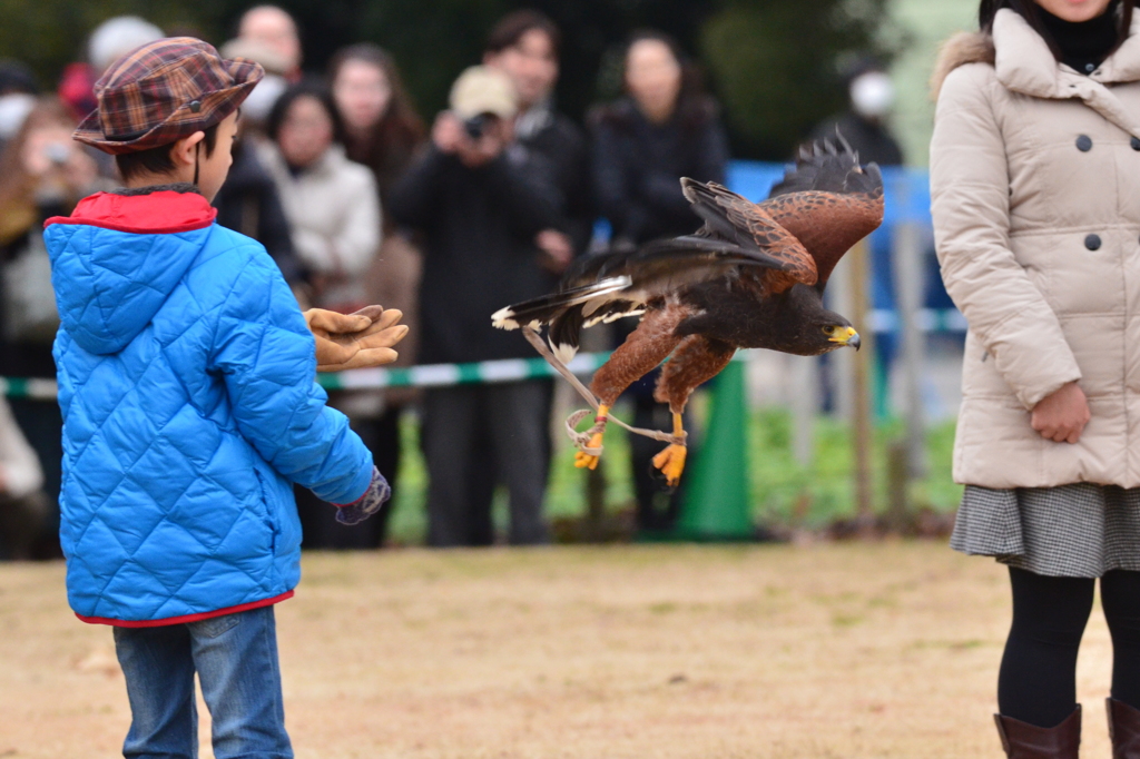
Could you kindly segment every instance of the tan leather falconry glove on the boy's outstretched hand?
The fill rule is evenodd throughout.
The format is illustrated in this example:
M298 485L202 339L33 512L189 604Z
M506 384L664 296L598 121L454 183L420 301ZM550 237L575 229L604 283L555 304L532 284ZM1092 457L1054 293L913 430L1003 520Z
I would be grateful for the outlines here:
M317 372L343 372L391 364L392 345L408 334L399 309L368 305L356 313L309 309L304 321L317 341Z

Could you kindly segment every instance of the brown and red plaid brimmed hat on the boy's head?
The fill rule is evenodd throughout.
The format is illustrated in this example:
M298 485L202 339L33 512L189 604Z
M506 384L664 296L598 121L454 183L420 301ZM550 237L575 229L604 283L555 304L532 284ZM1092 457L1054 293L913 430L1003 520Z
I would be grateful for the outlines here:
M98 107L72 137L111 154L170 145L234 113L262 76L259 64L225 60L202 40L157 40L99 77Z

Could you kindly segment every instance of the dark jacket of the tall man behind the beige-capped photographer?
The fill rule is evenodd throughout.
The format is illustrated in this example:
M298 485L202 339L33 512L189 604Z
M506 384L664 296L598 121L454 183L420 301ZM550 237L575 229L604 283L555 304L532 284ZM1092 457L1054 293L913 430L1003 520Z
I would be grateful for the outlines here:
M594 234L593 188L586 136L568 116L535 106L515 124L519 144L546 162L554 186L562 195L556 229L573 240L576 254L589 246Z

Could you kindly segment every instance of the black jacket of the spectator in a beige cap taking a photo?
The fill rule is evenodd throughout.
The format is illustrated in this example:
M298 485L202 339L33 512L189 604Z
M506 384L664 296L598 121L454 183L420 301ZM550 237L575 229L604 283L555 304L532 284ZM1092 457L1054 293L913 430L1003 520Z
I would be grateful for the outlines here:
M534 240L557 225L562 201L524 153L467 169L432 146L392 187L392 217L423 234L423 364L534 354L519 333L491 326L491 313L554 284Z

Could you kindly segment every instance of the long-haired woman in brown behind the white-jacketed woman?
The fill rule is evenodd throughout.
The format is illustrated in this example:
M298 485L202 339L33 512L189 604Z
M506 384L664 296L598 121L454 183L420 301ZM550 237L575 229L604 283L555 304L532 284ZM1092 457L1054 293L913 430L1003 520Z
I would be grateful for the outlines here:
M344 123L344 146L348 156L372 169L385 210L384 236L380 254L365 275L369 303L404 312L409 326L400 359L396 366L410 366L418 352L416 293L420 288L420 252L409 234L396 228L386 213L388 194L424 140L424 126L412 107L391 56L367 42L342 49L328 68L333 99ZM415 399L410 389L384 393L383 414L372 427L369 440L376 465L394 474L400 466L400 416L404 407ZM382 530L383 520L376 520ZM383 533L377 534L383 540Z

